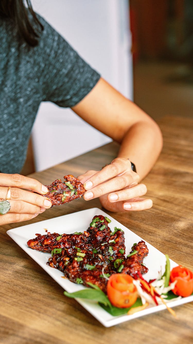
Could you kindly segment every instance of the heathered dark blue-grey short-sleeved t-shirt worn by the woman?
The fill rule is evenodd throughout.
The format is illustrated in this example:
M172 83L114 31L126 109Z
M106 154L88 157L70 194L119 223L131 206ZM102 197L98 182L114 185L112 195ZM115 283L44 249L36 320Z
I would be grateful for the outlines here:
M79 103L100 75L43 18L38 46L0 17L0 171L19 173L41 101L61 107ZM44 133L46 135L46 133Z

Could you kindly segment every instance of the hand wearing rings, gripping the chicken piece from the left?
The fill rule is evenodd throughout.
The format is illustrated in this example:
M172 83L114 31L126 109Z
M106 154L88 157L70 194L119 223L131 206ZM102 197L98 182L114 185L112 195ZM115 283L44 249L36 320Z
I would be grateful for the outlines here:
M0 215L0 225L30 220L50 208L50 200L40 195L47 192L47 187L35 179L0 173L0 201L7 198L11 205L7 214Z

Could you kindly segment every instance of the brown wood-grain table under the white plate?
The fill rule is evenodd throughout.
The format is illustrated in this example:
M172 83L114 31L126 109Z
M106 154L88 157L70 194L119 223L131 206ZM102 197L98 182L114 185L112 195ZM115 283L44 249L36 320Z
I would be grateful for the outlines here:
M159 124L164 148L144 180L153 208L108 214L193 271L193 120L165 117ZM49 184L65 174L97 170L116 157L118 148L109 143L31 176ZM64 297L62 288L6 234L11 228L92 207L101 208L98 199L81 198L31 221L0 228L0 343L191 343L192 303L175 308L178 319L164 310L105 328L79 303Z

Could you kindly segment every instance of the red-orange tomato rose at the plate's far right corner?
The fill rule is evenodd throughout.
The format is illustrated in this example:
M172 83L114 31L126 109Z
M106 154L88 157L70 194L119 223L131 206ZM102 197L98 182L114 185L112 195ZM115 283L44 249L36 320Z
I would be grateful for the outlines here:
M183 266L179 265L170 272L170 282L177 281L174 289L175 295L190 296L193 292L193 273Z

